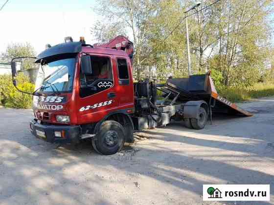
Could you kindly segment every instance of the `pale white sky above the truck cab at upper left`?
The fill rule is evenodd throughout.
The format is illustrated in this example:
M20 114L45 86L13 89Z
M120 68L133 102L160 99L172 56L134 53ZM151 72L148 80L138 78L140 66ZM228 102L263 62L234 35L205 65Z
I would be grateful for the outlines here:
M0 6L6 0L0 0ZM8 43L29 42L37 54L45 45L64 42L71 36L95 43L90 27L97 20L95 0L9 0L0 11L0 52Z

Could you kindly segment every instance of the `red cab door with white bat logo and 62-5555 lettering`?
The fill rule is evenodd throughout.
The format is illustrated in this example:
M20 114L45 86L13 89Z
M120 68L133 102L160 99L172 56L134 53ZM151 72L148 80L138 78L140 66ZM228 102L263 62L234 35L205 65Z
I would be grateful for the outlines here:
M92 55L92 74L79 74L78 123L93 123L102 120L119 105L114 81L112 56Z

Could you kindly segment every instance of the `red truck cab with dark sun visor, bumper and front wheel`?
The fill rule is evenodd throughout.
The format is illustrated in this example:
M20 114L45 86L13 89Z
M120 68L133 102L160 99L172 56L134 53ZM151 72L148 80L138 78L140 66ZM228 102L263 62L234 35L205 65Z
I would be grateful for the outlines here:
M102 154L133 142L133 71L124 50L69 41L47 48L35 62L40 68L33 93L33 135L50 143L92 138Z

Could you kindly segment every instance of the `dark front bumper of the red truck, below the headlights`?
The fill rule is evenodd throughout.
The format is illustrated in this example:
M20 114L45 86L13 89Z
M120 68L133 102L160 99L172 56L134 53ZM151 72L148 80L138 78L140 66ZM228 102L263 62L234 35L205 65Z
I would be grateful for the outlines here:
M41 137L37 134L37 130L45 132L45 137ZM30 122L31 133L46 142L49 143L79 143L81 129L78 125L43 125L36 120ZM65 132L65 136L56 137L55 131Z

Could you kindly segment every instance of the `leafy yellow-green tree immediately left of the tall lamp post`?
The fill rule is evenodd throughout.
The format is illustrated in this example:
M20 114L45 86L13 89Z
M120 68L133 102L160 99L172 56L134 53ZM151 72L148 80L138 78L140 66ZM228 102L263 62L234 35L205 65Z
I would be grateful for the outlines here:
M157 78L160 80L165 80L169 75L183 77L187 73L184 25L179 25L166 39L182 19L183 7L177 0L160 1L155 14L149 19L150 55L146 58L157 68Z

